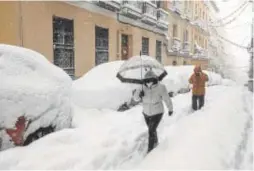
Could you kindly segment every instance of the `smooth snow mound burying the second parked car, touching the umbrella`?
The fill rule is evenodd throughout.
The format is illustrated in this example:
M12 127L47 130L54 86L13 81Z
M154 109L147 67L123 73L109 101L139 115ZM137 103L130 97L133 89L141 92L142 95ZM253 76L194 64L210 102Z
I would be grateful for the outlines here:
M133 84L116 78L123 61L101 64L73 82L73 102L85 108L118 109L132 97Z

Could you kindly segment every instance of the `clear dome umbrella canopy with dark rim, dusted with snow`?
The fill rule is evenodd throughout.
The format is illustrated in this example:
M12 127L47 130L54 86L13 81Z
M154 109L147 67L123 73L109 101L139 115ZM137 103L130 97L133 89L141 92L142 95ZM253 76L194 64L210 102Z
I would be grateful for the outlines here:
M150 70L153 71L156 78L145 78L146 73ZM131 57L124 62L117 73L117 78L125 83L144 84L154 79L161 81L166 75L167 72L163 65L155 58L142 55Z

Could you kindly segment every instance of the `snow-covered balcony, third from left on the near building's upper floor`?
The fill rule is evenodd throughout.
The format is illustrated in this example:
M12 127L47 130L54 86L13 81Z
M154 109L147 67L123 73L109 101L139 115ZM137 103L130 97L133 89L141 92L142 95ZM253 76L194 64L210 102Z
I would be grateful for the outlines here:
M157 20L156 5L149 1L144 1L144 11L141 21L149 25L155 25L157 22L156 20Z

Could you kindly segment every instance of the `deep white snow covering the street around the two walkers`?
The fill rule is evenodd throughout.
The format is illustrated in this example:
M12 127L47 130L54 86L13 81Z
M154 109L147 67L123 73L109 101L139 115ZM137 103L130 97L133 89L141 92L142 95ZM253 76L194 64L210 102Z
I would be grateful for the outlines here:
M238 86L207 88L192 113L191 94L173 98L158 127L159 146L145 156L141 106L125 112L73 104L73 127L0 153L0 169L251 169L252 96Z

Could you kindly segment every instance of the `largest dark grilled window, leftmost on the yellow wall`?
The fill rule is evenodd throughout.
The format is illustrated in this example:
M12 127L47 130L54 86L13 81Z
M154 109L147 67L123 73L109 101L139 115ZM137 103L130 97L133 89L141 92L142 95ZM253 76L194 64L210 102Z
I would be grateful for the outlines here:
M53 17L54 64L75 75L73 20Z

